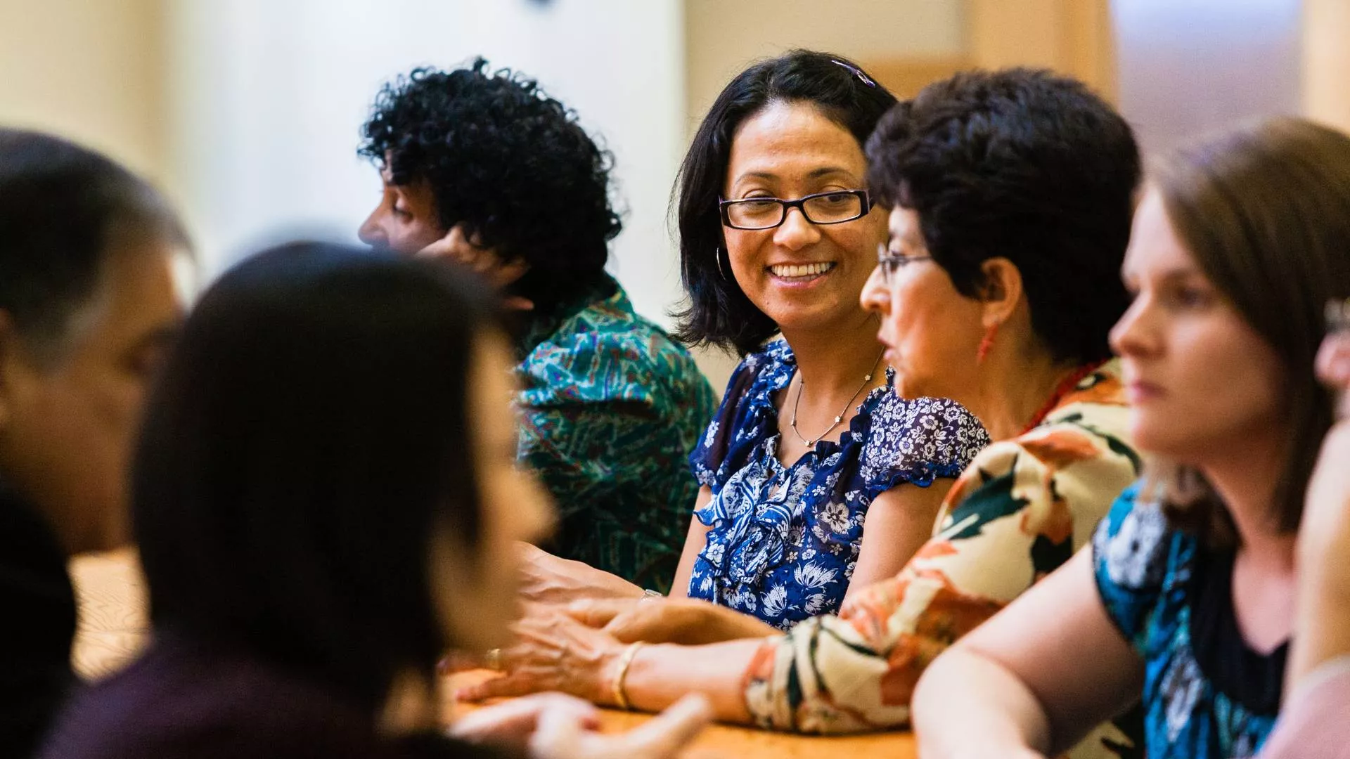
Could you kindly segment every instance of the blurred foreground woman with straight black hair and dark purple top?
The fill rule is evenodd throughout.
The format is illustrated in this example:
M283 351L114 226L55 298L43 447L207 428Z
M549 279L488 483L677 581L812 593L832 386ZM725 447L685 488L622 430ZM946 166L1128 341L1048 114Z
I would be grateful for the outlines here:
M699 700L606 736L552 694L440 732L436 659L505 636L516 542L552 521L516 467L494 300L450 263L315 243L205 293L132 469L154 640L42 756L660 759L698 731Z

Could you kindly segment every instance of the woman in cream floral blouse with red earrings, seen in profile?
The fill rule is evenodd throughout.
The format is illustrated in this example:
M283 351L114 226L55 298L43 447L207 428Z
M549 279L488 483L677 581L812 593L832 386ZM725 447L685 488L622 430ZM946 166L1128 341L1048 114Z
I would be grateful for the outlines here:
M744 139L751 127L736 134ZM972 150L973 140L988 147ZM733 143L733 157L737 150ZM865 587L855 570L838 616L814 616L786 635L728 640L755 631L725 608L591 601L572 613L603 629L560 627L568 629L567 650L586 651L601 666L566 650L562 664L551 664L517 648L510 655L525 659L520 666L566 670L566 689L641 709L697 690L713 700L718 718L772 729L899 727L927 662L1066 560L1135 477L1118 369L1103 363L1107 331L1127 301L1116 271L1139 177L1125 120L1072 80L1027 70L964 74L891 109L867 157L859 184L890 209L890 243L868 243L861 305L878 316L884 361L898 369L894 390L954 398L999 442L952 486L937 529L903 570ZM734 158L732 165L736 177ZM779 228L798 224L799 215L802 223L814 219L814 194L852 194L849 186L757 192L757 182L726 197L764 196L770 221L774 207L784 208ZM796 197L802 213L779 197ZM736 235L765 232L725 235L737 281L753 285L753 266L736 248L745 240ZM783 334L792 342L794 331ZM783 385L788 390L778 397L790 415L796 384ZM873 419L872 429L883 423L890 435L907 434L898 419ZM734 444L742 434L733 429L710 438ZM867 516L868 539L875 515ZM709 544L716 547L711 532ZM1103 731L1129 745L1112 725ZM1110 752L1102 741L1073 754L1103 755Z

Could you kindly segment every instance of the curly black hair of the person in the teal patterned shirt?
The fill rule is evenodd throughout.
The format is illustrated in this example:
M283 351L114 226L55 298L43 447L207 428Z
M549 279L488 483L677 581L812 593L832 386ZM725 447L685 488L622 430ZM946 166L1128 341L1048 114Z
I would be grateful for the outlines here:
M443 228L521 258L514 294L547 308L605 281L622 230L610 203L613 155L576 113L483 58L463 69L414 69L385 84L362 127L359 154L394 184L425 181Z

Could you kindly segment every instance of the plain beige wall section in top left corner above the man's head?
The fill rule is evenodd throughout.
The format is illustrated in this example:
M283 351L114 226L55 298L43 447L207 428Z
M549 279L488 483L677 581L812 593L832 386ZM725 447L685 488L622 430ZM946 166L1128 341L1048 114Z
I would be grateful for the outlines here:
M166 178L166 0L0 0L0 123Z

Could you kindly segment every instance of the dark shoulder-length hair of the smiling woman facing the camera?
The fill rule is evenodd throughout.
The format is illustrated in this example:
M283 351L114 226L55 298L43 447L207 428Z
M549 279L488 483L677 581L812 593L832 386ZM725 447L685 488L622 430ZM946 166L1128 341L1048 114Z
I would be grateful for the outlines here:
M736 76L713 103L676 178L680 276L688 307L678 312L675 336L744 355L778 325L722 274L722 219L718 196L726 184L732 139L742 122L774 103L809 103L857 139L859 149L895 96L842 55L792 50L760 61Z

